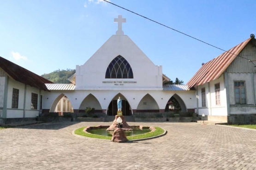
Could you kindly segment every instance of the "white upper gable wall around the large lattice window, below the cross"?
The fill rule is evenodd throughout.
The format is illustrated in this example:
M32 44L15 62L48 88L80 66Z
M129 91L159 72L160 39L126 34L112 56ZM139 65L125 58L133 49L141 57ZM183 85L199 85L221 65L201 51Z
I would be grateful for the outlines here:
M105 79L110 62L121 55L131 65L133 79ZM137 83L103 83L136 81ZM118 84L118 85L115 85ZM127 35L112 35L82 66L76 67L76 90L162 90L162 67L153 62Z

